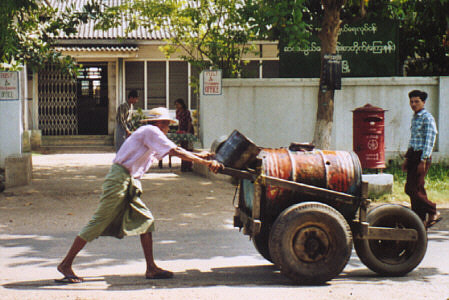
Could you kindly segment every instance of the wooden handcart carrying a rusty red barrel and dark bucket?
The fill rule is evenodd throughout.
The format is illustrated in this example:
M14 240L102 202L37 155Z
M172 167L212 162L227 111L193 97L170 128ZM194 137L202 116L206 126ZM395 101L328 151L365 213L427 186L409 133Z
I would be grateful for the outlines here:
M234 226L258 252L299 284L321 284L339 275L352 246L383 276L402 276L422 261L427 232L409 208L369 209L367 185L356 154L309 144L261 149L238 131L214 143L238 181Z

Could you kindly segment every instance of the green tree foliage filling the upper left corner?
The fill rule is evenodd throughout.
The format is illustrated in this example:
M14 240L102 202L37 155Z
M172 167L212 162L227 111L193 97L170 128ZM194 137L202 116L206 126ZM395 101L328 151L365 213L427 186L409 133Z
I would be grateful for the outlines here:
M39 0L2 0L0 6L0 69L16 70L27 65L31 70L44 63L61 66L74 72L76 64L54 50L54 37L72 34L77 26L86 22L98 7L89 3L81 12L71 7L57 12ZM90 11L90 12L88 12Z

